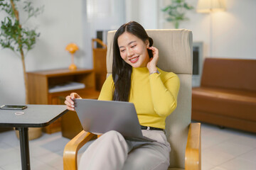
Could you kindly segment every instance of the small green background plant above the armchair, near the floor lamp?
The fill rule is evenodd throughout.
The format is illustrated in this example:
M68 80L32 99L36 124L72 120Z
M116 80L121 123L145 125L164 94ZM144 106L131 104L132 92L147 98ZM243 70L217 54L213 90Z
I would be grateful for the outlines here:
M166 21L174 23L174 27L178 29L181 21L188 21L189 19L185 16L186 10L191 10L194 7L187 4L186 0L171 0L171 4L166 6L162 11L168 14Z

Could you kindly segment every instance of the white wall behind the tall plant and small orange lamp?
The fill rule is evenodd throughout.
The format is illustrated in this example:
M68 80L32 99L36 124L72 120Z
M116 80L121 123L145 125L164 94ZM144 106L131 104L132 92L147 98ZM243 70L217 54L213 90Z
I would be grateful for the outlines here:
M75 42L80 51L75 53L75 63L85 67L82 50L82 0L36 0L34 6L45 6L41 16L28 23L38 27L41 36L33 50L26 56L28 72L41 69L68 67L71 59L65 46ZM3 11L0 19L4 18ZM21 13L21 18L23 18ZM21 59L11 50L0 50L0 104L25 103L25 87Z

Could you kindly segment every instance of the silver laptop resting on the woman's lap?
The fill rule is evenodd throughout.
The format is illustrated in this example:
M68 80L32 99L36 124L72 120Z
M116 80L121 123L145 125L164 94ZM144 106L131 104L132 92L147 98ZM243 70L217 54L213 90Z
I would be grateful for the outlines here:
M155 141L142 135L133 103L75 99L75 111L87 132L98 134L116 130L128 140Z

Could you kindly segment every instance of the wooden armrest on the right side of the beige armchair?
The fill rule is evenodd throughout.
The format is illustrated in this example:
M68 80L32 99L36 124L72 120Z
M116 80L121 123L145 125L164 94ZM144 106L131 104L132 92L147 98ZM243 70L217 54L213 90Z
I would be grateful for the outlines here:
M189 126L185 169L201 170L201 123L191 123Z

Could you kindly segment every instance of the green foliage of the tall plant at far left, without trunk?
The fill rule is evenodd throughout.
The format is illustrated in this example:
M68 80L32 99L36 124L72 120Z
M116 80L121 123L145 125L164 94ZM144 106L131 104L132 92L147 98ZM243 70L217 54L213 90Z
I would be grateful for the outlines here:
M20 0L14 0L15 6L17 1ZM9 1L0 0L0 9L1 11L5 11L8 15L1 21L1 47L9 48L17 52L21 52L21 50L31 50L36 44L36 38L38 38L40 34L36 33L36 30L33 28L25 28L25 25L20 26L19 21L17 21L14 16L14 11ZM32 16L36 17L43 12L43 6L40 8L33 8L31 1L25 1L24 7L21 9L28 14L28 18L31 18Z

